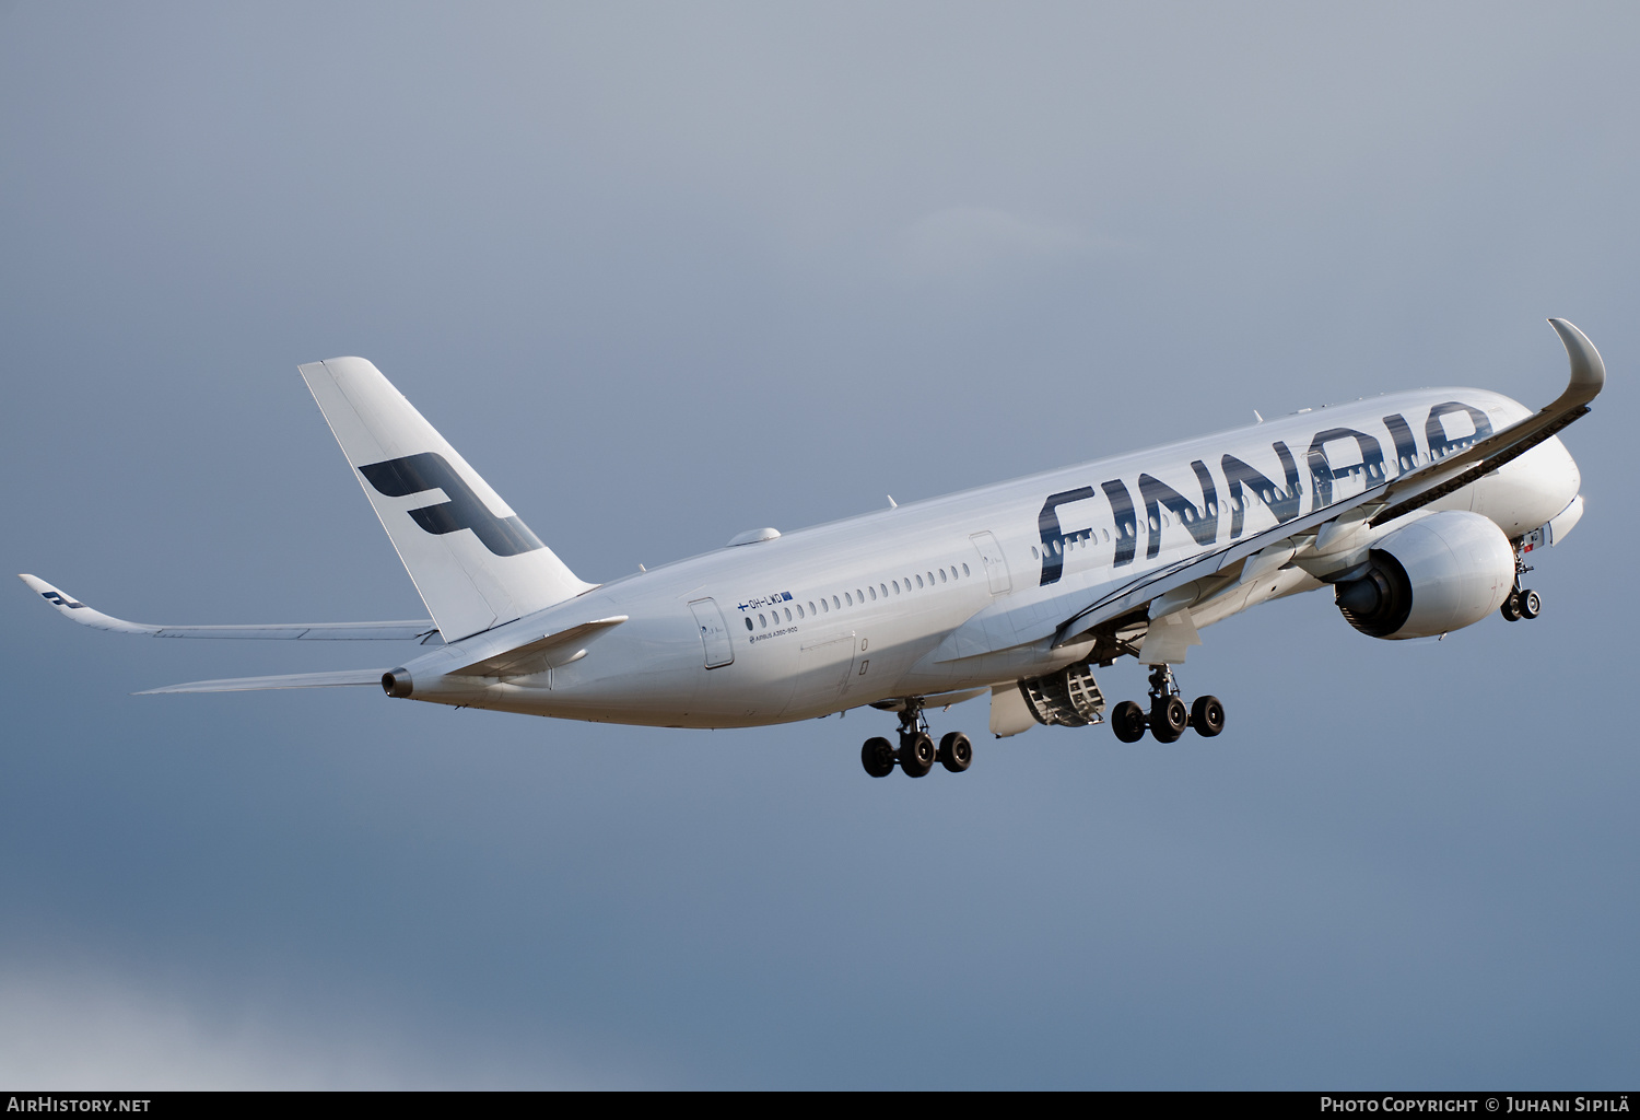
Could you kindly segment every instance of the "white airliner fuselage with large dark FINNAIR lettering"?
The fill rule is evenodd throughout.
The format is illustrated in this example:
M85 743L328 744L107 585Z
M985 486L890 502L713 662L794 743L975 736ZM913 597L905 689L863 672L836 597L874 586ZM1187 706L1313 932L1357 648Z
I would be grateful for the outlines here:
M1091 640L997 636L999 626L1028 630L1022 620L1036 603L1046 615L1068 594L1091 600L1527 415L1478 389L1305 410L722 548L602 584L405 669L418 700L663 726L753 726L984 689L1087 656ZM1517 540L1565 510L1579 482L1565 446L1548 439L1412 517L1473 510ZM1196 623L1320 585L1302 567L1281 567L1215 599ZM446 676L489 648L617 615L628 620L544 672Z

